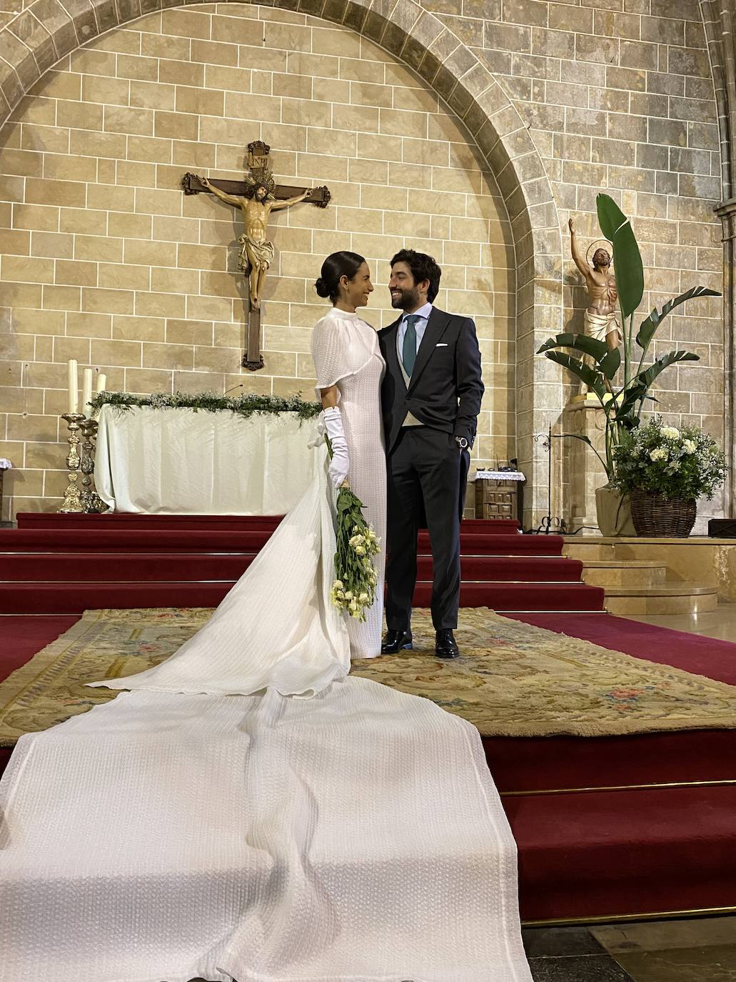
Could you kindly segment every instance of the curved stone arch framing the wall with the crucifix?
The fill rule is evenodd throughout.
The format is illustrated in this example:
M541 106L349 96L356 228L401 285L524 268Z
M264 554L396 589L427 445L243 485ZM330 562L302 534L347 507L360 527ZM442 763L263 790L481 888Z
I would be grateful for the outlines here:
M146 14L185 5L182 0L32 0L0 29L0 122L65 55ZM535 465L540 452L533 437L562 409L562 385L559 370L535 351L540 339L561 330L562 255L552 186L526 124L485 66L415 0L271 0L270 5L349 27L399 58L461 120L494 174L516 252L517 456L527 473L526 501L536 523L547 505L547 462L539 458Z

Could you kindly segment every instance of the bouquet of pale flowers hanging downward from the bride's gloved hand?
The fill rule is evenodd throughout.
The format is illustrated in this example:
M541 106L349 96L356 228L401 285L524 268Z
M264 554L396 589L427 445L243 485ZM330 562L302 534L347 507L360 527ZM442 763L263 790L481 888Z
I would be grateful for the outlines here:
M332 457L330 440L327 446ZM338 520L335 528L335 582L330 600L349 617L365 621L365 612L376 599L378 573L373 557L381 552L381 543L373 527L363 517L364 505L350 490L347 481L338 492Z

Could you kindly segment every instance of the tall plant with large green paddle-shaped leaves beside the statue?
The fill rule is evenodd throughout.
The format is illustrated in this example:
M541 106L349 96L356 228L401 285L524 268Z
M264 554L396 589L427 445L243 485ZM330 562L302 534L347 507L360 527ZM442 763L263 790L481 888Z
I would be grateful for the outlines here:
M596 199L598 221L605 238L613 246L615 256L616 288L621 311L621 348L609 349L605 341L598 341L587 334L558 334L550 338L540 348L538 355L546 355L550 360L569 369L573 375L584 382L599 397L605 412L605 458L595 450L586 436L575 433L560 434L583 440L593 447L605 467L608 481L615 478L616 461L614 450L621 443L624 433L639 425L646 400L657 402L650 395L650 389L657 376L671 364L678 361L698 361L699 355L692 352L672 351L660 355L652 364L645 367L645 360L657 328L662 320L680 303L694 297L720 297L717 290L708 287L692 287L679 297L667 302L642 321L638 331L634 326L634 316L644 296L644 265L639 244L631 228L631 223L616 202L608 194L599 194ZM634 347L634 343L638 351ZM566 350L566 351L565 351ZM570 355L572 350L578 355L590 355L592 364L586 364L580 356ZM623 379L616 382L616 376L623 362Z

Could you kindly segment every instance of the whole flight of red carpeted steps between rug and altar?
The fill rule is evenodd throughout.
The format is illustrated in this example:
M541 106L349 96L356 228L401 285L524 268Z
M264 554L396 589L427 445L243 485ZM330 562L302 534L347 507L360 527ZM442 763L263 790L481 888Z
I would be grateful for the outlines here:
M268 541L276 517L22 514L0 532L0 614L80 614L100 607L216 607ZM601 611L559 535L515 522L462 523L465 607ZM432 557L419 536L417 606L429 606ZM111 563L111 555L115 562ZM145 561L141 562L141 556Z

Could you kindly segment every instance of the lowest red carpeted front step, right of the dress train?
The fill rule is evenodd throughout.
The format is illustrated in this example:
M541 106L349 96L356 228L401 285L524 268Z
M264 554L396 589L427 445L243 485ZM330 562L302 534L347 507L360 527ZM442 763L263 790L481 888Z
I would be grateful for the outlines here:
M524 920L736 904L736 787L504 798Z

